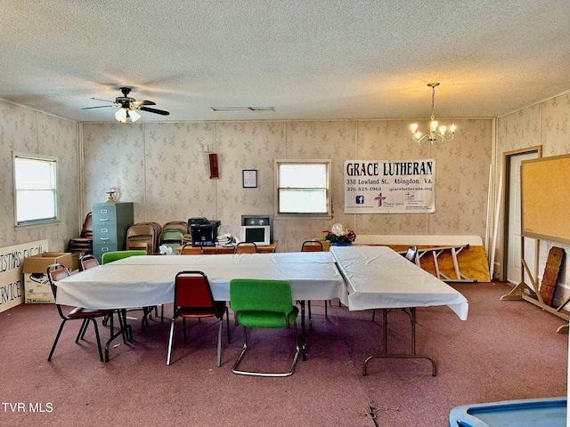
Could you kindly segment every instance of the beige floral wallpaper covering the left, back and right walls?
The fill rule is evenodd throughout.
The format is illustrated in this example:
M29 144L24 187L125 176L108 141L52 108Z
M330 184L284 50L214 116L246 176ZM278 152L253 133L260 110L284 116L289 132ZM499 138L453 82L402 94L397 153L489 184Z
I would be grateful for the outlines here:
M222 232L238 234L241 214L273 214L276 158L332 159L333 219L275 221L281 252L322 237L322 230L334 222L357 235L474 234L485 239L487 201L493 200L492 211L498 208L503 153L542 144L544 157L570 154L569 116L566 93L499 117L493 150L493 119L487 118L455 120L453 141L419 147L410 139L409 121L398 119L77 124L0 101L0 246L48 238L50 250L64 250L91 205L107 200L110 188L118 189L120 201L134 202L135 222L163 224L206 216L220 220ZM427 126L427 120L421 125ZM14 227L12 151L58 157L58 224ZM208 152L217 154L217 179L209 178ZM344 214L345 159L432 157L437 165L436 213ZM256 189L242 188L244 169L258 171ZM541 243L540 274L551 246ZM570 294L570 270L562 271L560 293Z

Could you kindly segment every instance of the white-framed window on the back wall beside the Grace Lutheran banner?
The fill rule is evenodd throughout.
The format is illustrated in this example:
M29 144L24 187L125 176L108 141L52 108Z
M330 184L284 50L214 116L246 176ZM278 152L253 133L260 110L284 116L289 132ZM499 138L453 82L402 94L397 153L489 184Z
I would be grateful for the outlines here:
M275 160L275 217L330 218L330 159Z

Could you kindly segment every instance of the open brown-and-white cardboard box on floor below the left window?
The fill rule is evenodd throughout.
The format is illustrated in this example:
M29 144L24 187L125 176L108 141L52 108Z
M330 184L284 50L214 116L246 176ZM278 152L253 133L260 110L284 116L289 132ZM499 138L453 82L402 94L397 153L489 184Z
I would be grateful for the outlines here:
M45 252L24 259L24 302L27 304L53 303L53 292L46 270L50 264L61 262L73 269L73 256L62 252Z

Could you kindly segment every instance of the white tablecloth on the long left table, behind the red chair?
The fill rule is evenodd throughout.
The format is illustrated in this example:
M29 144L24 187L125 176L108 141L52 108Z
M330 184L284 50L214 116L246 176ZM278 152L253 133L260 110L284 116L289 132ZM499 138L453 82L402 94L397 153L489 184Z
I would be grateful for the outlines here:
M289 280L294 300L347 304L346 286L332 254L216 254L133 256L57 282L57 302L91 309L118 309L173 302L175 275L199 270L217 301L229 301L232 278Z

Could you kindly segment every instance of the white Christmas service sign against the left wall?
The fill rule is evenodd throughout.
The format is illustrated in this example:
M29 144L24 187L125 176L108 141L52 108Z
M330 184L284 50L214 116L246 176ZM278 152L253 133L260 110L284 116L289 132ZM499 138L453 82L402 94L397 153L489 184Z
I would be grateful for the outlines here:
M0 312L24 302L24 282L21 269L24 258L43 254L48 241L24 243L0 248Z

